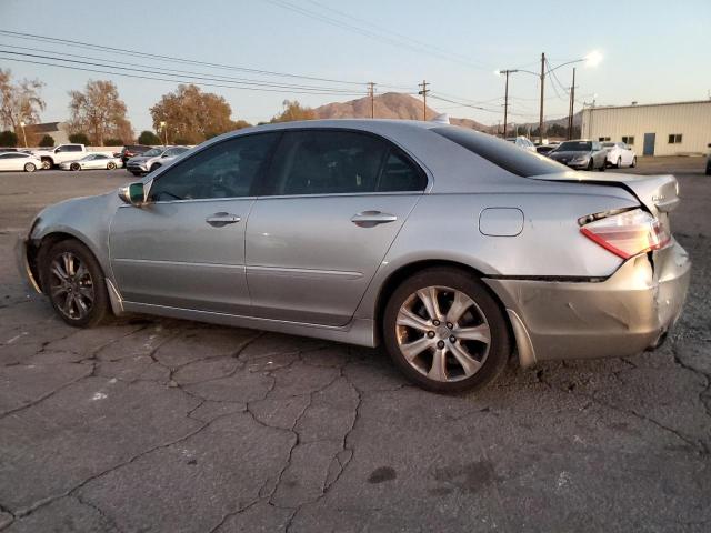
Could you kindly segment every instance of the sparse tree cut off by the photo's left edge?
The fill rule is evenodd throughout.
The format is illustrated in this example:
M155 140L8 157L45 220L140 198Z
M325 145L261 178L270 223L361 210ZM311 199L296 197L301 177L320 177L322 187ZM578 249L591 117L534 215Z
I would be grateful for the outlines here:
M27 78L12 83L12 72L0 69L0 123L14 131L20 122L38 123L40 111L44 110L44 100L40 98L43 86L39 80Z

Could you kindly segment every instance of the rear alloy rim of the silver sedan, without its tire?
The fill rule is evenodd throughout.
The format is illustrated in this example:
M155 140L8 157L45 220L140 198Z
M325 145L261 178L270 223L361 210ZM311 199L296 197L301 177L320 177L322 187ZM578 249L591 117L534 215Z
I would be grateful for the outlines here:
M428 286L400 306L395 339L407 362L439 382L468 379L489 354L489 322L467 294L448 286Z

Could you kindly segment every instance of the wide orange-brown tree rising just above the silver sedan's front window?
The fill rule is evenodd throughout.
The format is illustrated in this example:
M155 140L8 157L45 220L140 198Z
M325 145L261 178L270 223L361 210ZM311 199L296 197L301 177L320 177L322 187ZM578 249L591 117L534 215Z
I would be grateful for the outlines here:
M199 144L237 129L237 123L230 119L232 108L227 100L211 92L202 92L192 83L180 84L174 92L163 94L150 111L153 128L161 139L167 137L168 142L180 137L189 144ZM164 131L162 123L166 124Z

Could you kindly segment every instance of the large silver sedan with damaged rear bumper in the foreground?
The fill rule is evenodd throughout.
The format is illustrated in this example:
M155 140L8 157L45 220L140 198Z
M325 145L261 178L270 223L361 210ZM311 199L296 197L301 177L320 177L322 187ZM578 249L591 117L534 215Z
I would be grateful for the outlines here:
M689 284L678 202L672 175L592 178L464 128L314 120L50 205L17 250L74 326L111 310L382 343L409 379L453 392L512 353L658 346Z

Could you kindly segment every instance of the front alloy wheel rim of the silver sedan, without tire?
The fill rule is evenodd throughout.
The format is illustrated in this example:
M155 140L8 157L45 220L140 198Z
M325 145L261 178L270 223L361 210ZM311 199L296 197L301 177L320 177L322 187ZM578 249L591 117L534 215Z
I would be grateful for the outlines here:
M52 260L50 296L68 319L81 320L91 312L93 280L87 265L74 253L62 252Z

